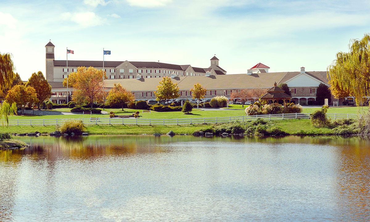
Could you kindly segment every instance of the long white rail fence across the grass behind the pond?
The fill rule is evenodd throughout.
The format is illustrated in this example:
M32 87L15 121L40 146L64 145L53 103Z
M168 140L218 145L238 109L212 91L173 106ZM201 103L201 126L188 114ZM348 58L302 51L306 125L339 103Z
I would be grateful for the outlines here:
M176 118L176 119L143 119L143 118L77 118L75 120L82 120L84 124L97 124L97 125L182 125L182 124L210 124L210 123L226 123L233 121L249 121L257 118L265 120L287 120L287 119L309 119L310 113L289 113L289 114L267 114L267 115L251 115L251 116L238 116L238 117L203 117L203 118ZM326 114L332 119L340 118L361 118L360 115L354 114ZM58 125L65 119L17 119L9 120L9 125Z

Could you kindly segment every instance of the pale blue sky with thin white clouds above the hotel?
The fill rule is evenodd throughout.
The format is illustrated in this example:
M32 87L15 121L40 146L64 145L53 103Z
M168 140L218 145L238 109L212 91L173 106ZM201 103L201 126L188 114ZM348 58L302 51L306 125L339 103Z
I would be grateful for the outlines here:
M370 32L369 0L0 0L0 53L27 80L55 59L160 61L228 74L326 71L353 38Z

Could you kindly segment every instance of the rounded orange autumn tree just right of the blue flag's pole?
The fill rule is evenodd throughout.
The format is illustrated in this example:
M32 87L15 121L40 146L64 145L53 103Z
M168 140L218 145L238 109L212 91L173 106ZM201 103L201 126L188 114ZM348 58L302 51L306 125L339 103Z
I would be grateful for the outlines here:
M107 104L112 106L119 105L123 107L127 102L131 102L135 100L134 94L132 94L129 90L126 90L122 87L121 84L114 84L114 87L109 91L107 97Z

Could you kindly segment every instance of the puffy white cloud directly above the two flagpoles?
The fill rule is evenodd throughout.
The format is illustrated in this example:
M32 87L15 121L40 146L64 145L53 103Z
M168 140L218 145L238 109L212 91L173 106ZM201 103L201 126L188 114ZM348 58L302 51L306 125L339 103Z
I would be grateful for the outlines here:
M105 19L102 19L100 16L97 16L92 11L73 14L70 12L65 12L61 14L61 17L64 20L74 21L75 23L84 27L98 26L105 22Z

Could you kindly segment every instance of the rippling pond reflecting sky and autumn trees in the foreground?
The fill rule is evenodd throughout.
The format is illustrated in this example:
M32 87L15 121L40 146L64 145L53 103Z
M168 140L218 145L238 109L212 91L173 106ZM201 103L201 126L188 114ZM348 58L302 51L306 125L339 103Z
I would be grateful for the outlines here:
M14 137L0 221L369 221L358 137Z

